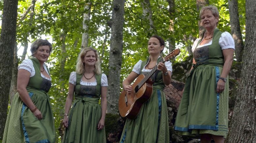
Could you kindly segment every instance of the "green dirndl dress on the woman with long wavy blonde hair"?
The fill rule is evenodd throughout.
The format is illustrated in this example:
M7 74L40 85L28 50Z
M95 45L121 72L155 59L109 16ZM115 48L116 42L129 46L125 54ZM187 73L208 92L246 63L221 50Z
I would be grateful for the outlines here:
M75 101L68 115L63 143L106 143L105 127L98 130L101 119L99 99L101 95L101 75L95 74L96 86L80 84L83 74L76 74Z

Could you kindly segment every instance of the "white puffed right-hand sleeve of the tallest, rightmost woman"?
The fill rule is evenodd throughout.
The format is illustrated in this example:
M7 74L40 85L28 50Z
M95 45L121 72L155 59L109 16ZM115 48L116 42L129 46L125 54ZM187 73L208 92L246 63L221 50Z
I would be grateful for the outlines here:
M221 50L223 49L234 49L235 50L235 42L233 37L229 32L223 32L219 38L219 45Z

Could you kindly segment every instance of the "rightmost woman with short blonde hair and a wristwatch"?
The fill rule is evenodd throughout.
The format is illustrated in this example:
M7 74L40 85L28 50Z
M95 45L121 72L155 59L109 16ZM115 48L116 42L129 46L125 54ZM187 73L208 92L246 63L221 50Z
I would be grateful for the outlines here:
M174 130L201 139L224 143L228 133L228 73L235 51L230 33L217 29L215 6L200 11L205 32L193 44L193 66L186 80Z

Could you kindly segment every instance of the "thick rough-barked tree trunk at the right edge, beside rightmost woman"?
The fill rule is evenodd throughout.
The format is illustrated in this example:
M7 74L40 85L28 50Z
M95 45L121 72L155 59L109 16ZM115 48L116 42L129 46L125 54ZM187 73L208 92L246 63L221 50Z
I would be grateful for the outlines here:
M256 142L256 1L245 1L245 50L228 143Z

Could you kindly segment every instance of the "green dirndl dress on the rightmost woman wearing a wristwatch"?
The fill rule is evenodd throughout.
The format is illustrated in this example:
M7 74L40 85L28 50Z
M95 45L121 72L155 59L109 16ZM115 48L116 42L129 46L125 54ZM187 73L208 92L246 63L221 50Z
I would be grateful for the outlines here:
M227 136L228 77L224 91L216 91L224 64L224 56L218 44L221 33L215 29L212 45L194 50L196 65L186 80L174 125L174 130L179 131L181 135L194 138L203 133L224 138Z

